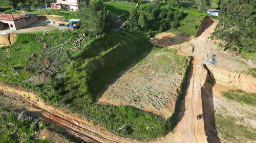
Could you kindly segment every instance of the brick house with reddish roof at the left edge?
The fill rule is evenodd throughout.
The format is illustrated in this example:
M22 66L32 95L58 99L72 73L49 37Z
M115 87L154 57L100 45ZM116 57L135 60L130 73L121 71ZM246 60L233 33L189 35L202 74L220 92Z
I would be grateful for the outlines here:
M37 21L38 17L35 14L14 15L2 13L0 14L0 30L19 30Z

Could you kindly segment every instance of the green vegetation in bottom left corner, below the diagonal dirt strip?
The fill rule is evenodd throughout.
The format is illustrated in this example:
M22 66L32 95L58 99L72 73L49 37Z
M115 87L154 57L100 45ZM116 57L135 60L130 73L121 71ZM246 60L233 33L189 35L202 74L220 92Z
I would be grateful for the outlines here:
M69 135L65 130L39 119L34 119L34 121L37 121L37 124L33 124L34 121L31 120L18 121L17 117L18 113L16 111L9 108L5 109L0 105L0 142L53 143L48 138L40 139L41 135L45 135L42 134L42 130L46 128L58 137L61 136L62 140L82 142L75 136Z

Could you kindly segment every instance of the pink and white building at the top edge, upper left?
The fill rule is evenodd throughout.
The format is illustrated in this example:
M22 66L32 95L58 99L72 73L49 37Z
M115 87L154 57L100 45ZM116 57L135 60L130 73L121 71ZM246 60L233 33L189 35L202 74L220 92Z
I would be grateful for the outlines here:
M61 10L62 8L65 8L66 10L78 11L78 2L79 0L57 0L50 3L50 5L52 9ZM80 2L89 4L90 0L80 0Z

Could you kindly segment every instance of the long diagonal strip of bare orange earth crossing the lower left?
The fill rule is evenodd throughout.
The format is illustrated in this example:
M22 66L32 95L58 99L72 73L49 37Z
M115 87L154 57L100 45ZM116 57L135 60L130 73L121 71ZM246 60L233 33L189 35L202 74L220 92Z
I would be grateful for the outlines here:
M94 126L83 117L67 110L48 105L28 89L14 87L0 82L0 93L10 98L23 100L30 104L32 113L57 127L61 127L69 133L89 142L138 142L130 138L122 138L106 131L104 128ZM34 108L32 108L34 107Z

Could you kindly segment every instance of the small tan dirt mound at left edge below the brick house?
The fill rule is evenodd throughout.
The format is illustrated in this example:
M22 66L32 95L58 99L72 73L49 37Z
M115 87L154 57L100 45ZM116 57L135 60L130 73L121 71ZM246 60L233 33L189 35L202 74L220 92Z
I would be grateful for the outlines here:
M8 47L15 43L17 40L18 36L16 34L6 34L6 35L1 35L0 34L0 48L1 47Z

